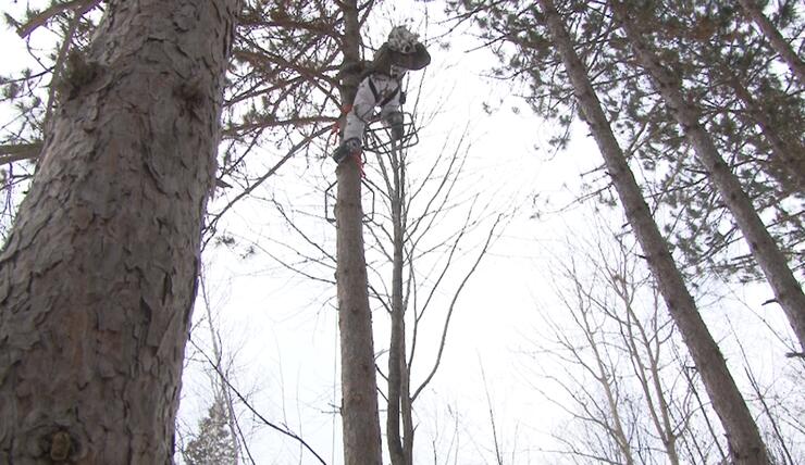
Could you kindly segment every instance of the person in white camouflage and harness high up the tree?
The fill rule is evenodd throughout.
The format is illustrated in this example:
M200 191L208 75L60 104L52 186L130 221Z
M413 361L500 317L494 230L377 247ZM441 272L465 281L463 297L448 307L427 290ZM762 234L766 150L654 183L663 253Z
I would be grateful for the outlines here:
M405 26L397 26L388 34L388 40L381 46L374 59L363 72L358 85L352 106L347 113L347 124L340 144L333 151L333 160L340 163L348 155L357 153L363 146L363 129L380 106L381 117L388 125L392 138L405 137L403 112L405 96L400 88L403 77L409 71L422 70L431 63L425 46L419 36Z

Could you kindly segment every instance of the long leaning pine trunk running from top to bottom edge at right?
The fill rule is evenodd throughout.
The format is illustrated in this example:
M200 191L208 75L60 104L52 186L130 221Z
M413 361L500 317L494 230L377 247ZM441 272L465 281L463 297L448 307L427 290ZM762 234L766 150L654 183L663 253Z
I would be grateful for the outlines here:
M660 293L698 368L714 409L721 419L738 464L767 464L766 448L757 425L741 397L718 345L710 336L679 268L643 199L623 152L573 49L565 24L550 0L538 1L554 46L559 51L585 120L604 156L627 218L646 255Z

